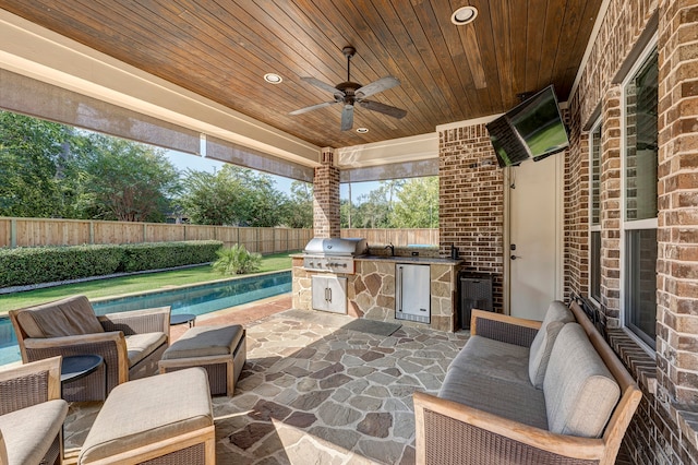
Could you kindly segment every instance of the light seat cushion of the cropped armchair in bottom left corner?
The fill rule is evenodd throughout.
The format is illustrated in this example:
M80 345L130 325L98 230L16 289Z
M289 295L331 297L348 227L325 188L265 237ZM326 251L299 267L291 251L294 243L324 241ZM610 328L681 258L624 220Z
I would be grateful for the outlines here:
M0 430L8 452L8 465L39 464L68 415L62 400L43 402L0 416Z

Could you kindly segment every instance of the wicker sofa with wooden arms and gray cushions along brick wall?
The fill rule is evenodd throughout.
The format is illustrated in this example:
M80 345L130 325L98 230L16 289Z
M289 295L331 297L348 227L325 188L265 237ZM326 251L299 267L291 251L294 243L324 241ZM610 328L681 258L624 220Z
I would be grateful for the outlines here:
M577 303L543 322L474 310L438 396L414 393L417 463L613 464L640 398Z

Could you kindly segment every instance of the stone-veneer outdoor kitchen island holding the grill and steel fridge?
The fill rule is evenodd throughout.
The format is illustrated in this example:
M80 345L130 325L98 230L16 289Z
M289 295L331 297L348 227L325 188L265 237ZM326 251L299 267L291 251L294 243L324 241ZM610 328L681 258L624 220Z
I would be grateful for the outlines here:
M303 255L291 255L293 274L293 308L314 310L312 276L347 278L347 313L356 318L400 323L413 327L431 327L454 332L457 327L457 277L461 260L438 258L437 249L398 249L397 257L384 254L383 249L356 258L356 273L322 273L303 269ZM419 253L413 257L412 253ZM400 257L405 254L407 257ZM395 319L396 264L420 264L430 267L431 323Z

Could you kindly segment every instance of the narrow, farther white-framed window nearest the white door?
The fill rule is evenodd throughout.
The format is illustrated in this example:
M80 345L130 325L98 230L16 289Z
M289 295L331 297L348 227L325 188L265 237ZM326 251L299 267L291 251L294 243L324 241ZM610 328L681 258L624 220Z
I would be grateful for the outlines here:
M601 134L599 119L589 135L589 297L601 303Z

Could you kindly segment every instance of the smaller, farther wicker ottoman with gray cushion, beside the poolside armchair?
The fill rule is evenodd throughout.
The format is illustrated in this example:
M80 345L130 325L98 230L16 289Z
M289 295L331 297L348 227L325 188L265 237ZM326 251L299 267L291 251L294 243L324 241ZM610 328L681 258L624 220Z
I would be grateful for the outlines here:
M160 373L166 373L202 367L208 372L210 394L231 397L246 358L245 331L241 325L195 326L165 350L159 368Z

